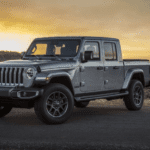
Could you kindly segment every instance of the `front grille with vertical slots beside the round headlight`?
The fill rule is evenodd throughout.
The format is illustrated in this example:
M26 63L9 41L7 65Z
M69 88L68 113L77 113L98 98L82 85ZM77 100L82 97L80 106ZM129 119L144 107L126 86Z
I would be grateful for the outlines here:
M0 86L23 86L23 71L20 67L0 68Z

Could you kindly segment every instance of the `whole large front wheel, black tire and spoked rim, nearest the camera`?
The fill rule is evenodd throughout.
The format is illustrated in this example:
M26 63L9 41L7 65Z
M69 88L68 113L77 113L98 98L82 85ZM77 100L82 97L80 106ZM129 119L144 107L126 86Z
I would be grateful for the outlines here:
M34 105L37 117L46 124L60 124L67 121L73 108L74 99L71 91L58 83L46 88L43 96Z

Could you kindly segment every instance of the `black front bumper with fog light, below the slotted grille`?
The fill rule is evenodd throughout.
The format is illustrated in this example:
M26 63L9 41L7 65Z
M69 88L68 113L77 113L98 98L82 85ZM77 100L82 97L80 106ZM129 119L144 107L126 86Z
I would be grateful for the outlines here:
M0 87L0 104L24 108L33 107L34 100L43 95L43 92L44 89L41 88Z

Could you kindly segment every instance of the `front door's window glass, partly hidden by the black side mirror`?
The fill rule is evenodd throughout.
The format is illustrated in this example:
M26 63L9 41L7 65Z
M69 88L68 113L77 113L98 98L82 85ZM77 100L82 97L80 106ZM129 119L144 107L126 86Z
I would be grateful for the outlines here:
M99 46L98 42L86 42L84 51L93 51L93 60L99 60Z

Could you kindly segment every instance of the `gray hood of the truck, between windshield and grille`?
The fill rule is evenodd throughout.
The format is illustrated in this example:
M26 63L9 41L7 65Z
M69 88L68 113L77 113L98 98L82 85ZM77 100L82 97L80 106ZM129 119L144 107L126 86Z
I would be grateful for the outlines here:
M48 69L59 69L59 68L74 68L77 66L77 62L74 60L8 60L0 62L0 67L29 67L39 66L41 71Z

